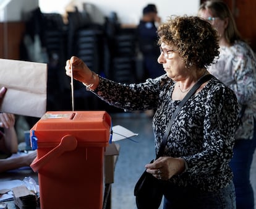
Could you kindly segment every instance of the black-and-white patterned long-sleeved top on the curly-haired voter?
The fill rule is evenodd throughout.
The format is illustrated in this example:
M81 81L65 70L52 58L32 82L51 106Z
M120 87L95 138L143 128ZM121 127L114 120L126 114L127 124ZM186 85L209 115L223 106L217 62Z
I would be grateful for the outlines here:
M119 108L156 108L153 130L158 151L169 120L180 102L171 98L174 85L167 75L130 85L100 77L94 93ZM184 158L189 169L169 182L202 190L216 190L229 184L233 174L228 163L233 155L238 109L234 92L214 77L189 98L174 119L164 150L165 156Z

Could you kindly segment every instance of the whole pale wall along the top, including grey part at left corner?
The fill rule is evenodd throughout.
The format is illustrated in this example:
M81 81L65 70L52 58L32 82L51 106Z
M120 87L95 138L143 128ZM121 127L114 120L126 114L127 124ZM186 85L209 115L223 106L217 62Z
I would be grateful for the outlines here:
M108 16L114 11L120 22L127 24L137 24L142 16L143 7L148 3L156 4L158 14L163 21L173 14L195 15L200 4L200 0L1 0L0 22L22 20L26 12L38 6L41 12L64 14L67 5L82 4L82 2L93 4L103 16Z

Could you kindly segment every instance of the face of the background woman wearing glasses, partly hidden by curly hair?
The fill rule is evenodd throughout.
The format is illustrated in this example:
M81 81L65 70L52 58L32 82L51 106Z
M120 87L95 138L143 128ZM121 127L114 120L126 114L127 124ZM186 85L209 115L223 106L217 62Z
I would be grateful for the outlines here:
M207 20L213 25L213 27L218 31L220 37L224 37L224 31L228 26L228 20L221 20L216 17L210 9L201 10L198 12L198 16L202 19Z

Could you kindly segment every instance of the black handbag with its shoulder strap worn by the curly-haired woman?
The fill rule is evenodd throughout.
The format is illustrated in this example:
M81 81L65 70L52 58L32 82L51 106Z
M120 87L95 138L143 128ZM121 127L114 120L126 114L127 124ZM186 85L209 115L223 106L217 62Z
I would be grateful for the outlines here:
M190 96L194 95L195 91L202 85L202 83L207 82L211 79L213 75L208 74L201 77L197 83L190 89L187 95L183 98L181 103L177 106L176 110L171 117L171 120L168 124L166 132L164 133L163 140L161 142L158 153L156 154L156 159L163 155L164 147L166 146L169 131L171 130L171 125L173 124L174 118L179 113L179 110L187 102ZM151 160L150 163L153 163L154 160ZM134 187L134 195L136 198L136 205L138 209L157 209L161 205L161 200L164 194L164 182L160 179L156 179L152 174L147 173L145 170L140 176L139 180Z

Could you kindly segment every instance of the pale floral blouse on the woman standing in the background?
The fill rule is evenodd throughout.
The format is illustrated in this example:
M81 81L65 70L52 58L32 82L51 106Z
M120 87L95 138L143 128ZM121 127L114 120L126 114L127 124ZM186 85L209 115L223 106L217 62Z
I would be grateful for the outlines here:
M252 139L256 116L256 59L249 45L236 41L220 48L220 57L208 70L236 93L240 108L245 111L236 139Z

